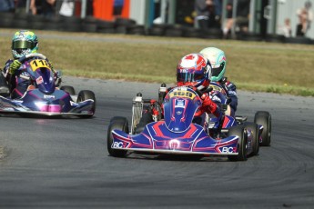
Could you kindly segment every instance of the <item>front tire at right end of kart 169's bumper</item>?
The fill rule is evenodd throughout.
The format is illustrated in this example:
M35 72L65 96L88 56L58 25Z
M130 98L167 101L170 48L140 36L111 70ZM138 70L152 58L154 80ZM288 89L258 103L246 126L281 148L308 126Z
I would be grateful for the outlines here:
M238 135L238 155L228 155L229 161L247 161L247 129L242 125L233 126L229 129L228 135Z

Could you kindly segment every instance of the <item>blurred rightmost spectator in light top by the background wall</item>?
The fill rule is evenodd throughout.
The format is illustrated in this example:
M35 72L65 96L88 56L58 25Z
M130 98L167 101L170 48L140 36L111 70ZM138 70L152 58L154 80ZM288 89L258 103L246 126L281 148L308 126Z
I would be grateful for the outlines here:
M312 4L307 1L303 8L297 10L297 15L299 16L299 24L297 25L297 36L306 35L309 30L310 23L313 19L313 13L310 10Z

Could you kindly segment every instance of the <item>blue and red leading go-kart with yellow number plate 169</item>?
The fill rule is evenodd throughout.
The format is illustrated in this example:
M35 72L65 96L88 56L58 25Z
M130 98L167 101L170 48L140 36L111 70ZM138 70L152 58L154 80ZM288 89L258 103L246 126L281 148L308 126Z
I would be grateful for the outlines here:
M212 137L206 126L194 122L194 115L202 104L202 94L187 86L171 89L163 101L163 118L157 101L144 101L141 94L137 94L133 99L131 131L125 117L114 117L110 121L106 141L108 153L116 157L132 152L189 154L191 158L218 155L228 156L230 161L245 161L248 154L256 154L252 140L258 139L248 134L245 126L233 125L236 124L234 118L228 117L229 122L225 123L228 132L218 138ZM154 106L155 112L152 113L153 121L141 126L142 115L149 115L143 114L145 102Z

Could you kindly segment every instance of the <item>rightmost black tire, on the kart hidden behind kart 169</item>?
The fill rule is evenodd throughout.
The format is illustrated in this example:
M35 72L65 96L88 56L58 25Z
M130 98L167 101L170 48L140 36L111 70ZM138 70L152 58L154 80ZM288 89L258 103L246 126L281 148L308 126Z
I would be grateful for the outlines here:
M254 123L263 125L264 129L261 134L261 146L270 146L271 141L271 115L267 111L258 111L254 117Z

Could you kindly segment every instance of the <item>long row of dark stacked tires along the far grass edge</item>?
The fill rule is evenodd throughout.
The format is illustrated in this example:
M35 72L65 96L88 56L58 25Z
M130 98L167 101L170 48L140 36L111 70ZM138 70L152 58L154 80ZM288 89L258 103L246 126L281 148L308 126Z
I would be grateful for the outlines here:
M137 22L127 18L116 18L115 21L96 19L86 16L81 19L76 16L54 16L45 18L42 15L0 13L0 28L16 28L30 30L49 30L65 32L86 32L100 34L126 34L126 35L155 35L167 37L192 37L204 39L222 39L220 28L199 30L191 26L154 24L146 28L137 25ZM237 33L234 39L241 41L265 41L284 44L313 45L314 40L308 37L284 37L283 35L266 35L265 37L254 33Z

